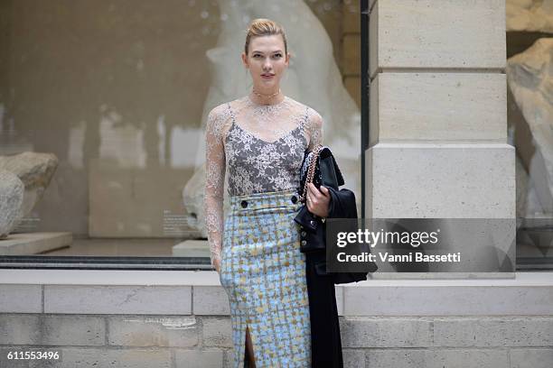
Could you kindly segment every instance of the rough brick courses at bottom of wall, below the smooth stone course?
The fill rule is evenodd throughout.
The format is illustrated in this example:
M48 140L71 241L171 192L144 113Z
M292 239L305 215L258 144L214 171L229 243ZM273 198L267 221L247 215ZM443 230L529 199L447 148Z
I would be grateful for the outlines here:
M231 367L230 318L3 314L3 367ZM550 368L553 317L341 317L347 368ZM9 351L58 350L52 365Z

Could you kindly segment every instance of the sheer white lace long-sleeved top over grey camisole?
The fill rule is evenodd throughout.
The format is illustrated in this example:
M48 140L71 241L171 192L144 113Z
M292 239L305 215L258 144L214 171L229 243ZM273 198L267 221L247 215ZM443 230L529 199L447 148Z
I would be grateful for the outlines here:
M290 97L259 105L246 96L211 110L205 138L204 209L213 263L222 246L225 176L230 196L299 189L305 150L323 143L323 118Z

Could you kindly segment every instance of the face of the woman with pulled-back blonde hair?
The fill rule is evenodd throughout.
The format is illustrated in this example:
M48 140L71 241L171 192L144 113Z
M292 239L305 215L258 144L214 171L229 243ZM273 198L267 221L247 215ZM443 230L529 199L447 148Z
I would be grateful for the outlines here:
M277 92L280 78L288 67L290 54L285 54L280 34L252 37L248 55L242 52L242 61L253 79L254 89L266 93Z

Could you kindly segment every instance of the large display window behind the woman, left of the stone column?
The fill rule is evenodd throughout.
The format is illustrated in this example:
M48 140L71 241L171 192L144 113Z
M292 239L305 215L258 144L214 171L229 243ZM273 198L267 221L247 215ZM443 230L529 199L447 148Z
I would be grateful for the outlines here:
M251 89L240 52L261 14L286 30L283 91L323 116L361 193L358 6L0 2L0 255L209 262L206 117Z

